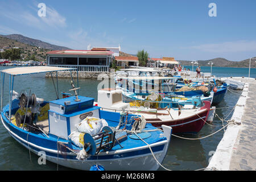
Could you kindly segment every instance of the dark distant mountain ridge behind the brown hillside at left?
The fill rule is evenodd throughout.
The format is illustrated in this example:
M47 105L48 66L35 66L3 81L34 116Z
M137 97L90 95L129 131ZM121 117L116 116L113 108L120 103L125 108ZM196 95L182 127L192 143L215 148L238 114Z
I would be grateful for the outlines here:
M70 50L71 49L68 47L56 46L53 44L49 44L49 43L43 42L41 40L31 39L31 38L28 38L28 37L20 35L20 34L0 35L0 36L2 36L3 38L16 40L16 41L24 43L24 44L28 44L31 46L36 46L36 47L40 47L40 48L44 48L44 49L49 49L49 50L68 50L68 49Z

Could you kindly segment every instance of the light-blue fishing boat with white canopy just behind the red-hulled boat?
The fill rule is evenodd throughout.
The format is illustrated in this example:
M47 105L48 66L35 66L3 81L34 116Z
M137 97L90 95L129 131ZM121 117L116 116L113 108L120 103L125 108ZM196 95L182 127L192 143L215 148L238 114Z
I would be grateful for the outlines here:
M194 104L195 100L213 100L213 92L209 84L200 85L191 91L174 92L176 90L176 77L122 77L117 79L115 88L123 90L123 101L148 100L152 94L160 102L160 107L179 107ZM209 87L209 88L208 88ZM206 90L203 90L206 89ZM180 89L181 90L181 89ZM183 96L183 94L185 96ZM197 102L200 104L199 102Z

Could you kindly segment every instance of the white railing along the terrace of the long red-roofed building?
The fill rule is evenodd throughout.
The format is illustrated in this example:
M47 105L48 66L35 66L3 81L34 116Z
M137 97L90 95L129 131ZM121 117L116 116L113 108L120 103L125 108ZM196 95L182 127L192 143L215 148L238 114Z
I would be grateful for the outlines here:
M59 65L50 64L52 67L77 68L79 72L109 72L109 66L101 65Z

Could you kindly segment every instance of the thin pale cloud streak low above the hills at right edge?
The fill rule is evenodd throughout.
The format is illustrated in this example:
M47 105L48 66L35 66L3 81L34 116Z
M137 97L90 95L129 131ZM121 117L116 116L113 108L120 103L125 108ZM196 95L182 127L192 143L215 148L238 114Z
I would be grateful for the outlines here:
M189 48L198 49L204 52L214 52L214 53L256 51L256 41L240 40L235 42L202 44L199 46L191 46Z

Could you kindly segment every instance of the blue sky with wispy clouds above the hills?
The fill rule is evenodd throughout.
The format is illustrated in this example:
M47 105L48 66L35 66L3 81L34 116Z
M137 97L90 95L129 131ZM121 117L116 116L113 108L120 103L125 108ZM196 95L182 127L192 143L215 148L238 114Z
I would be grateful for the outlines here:
M38 4L46 4L46 17ZM216 3L217 16L208 15ZM256 1L3 1L0 34L72 49L118 47L176 60L256 56Z

